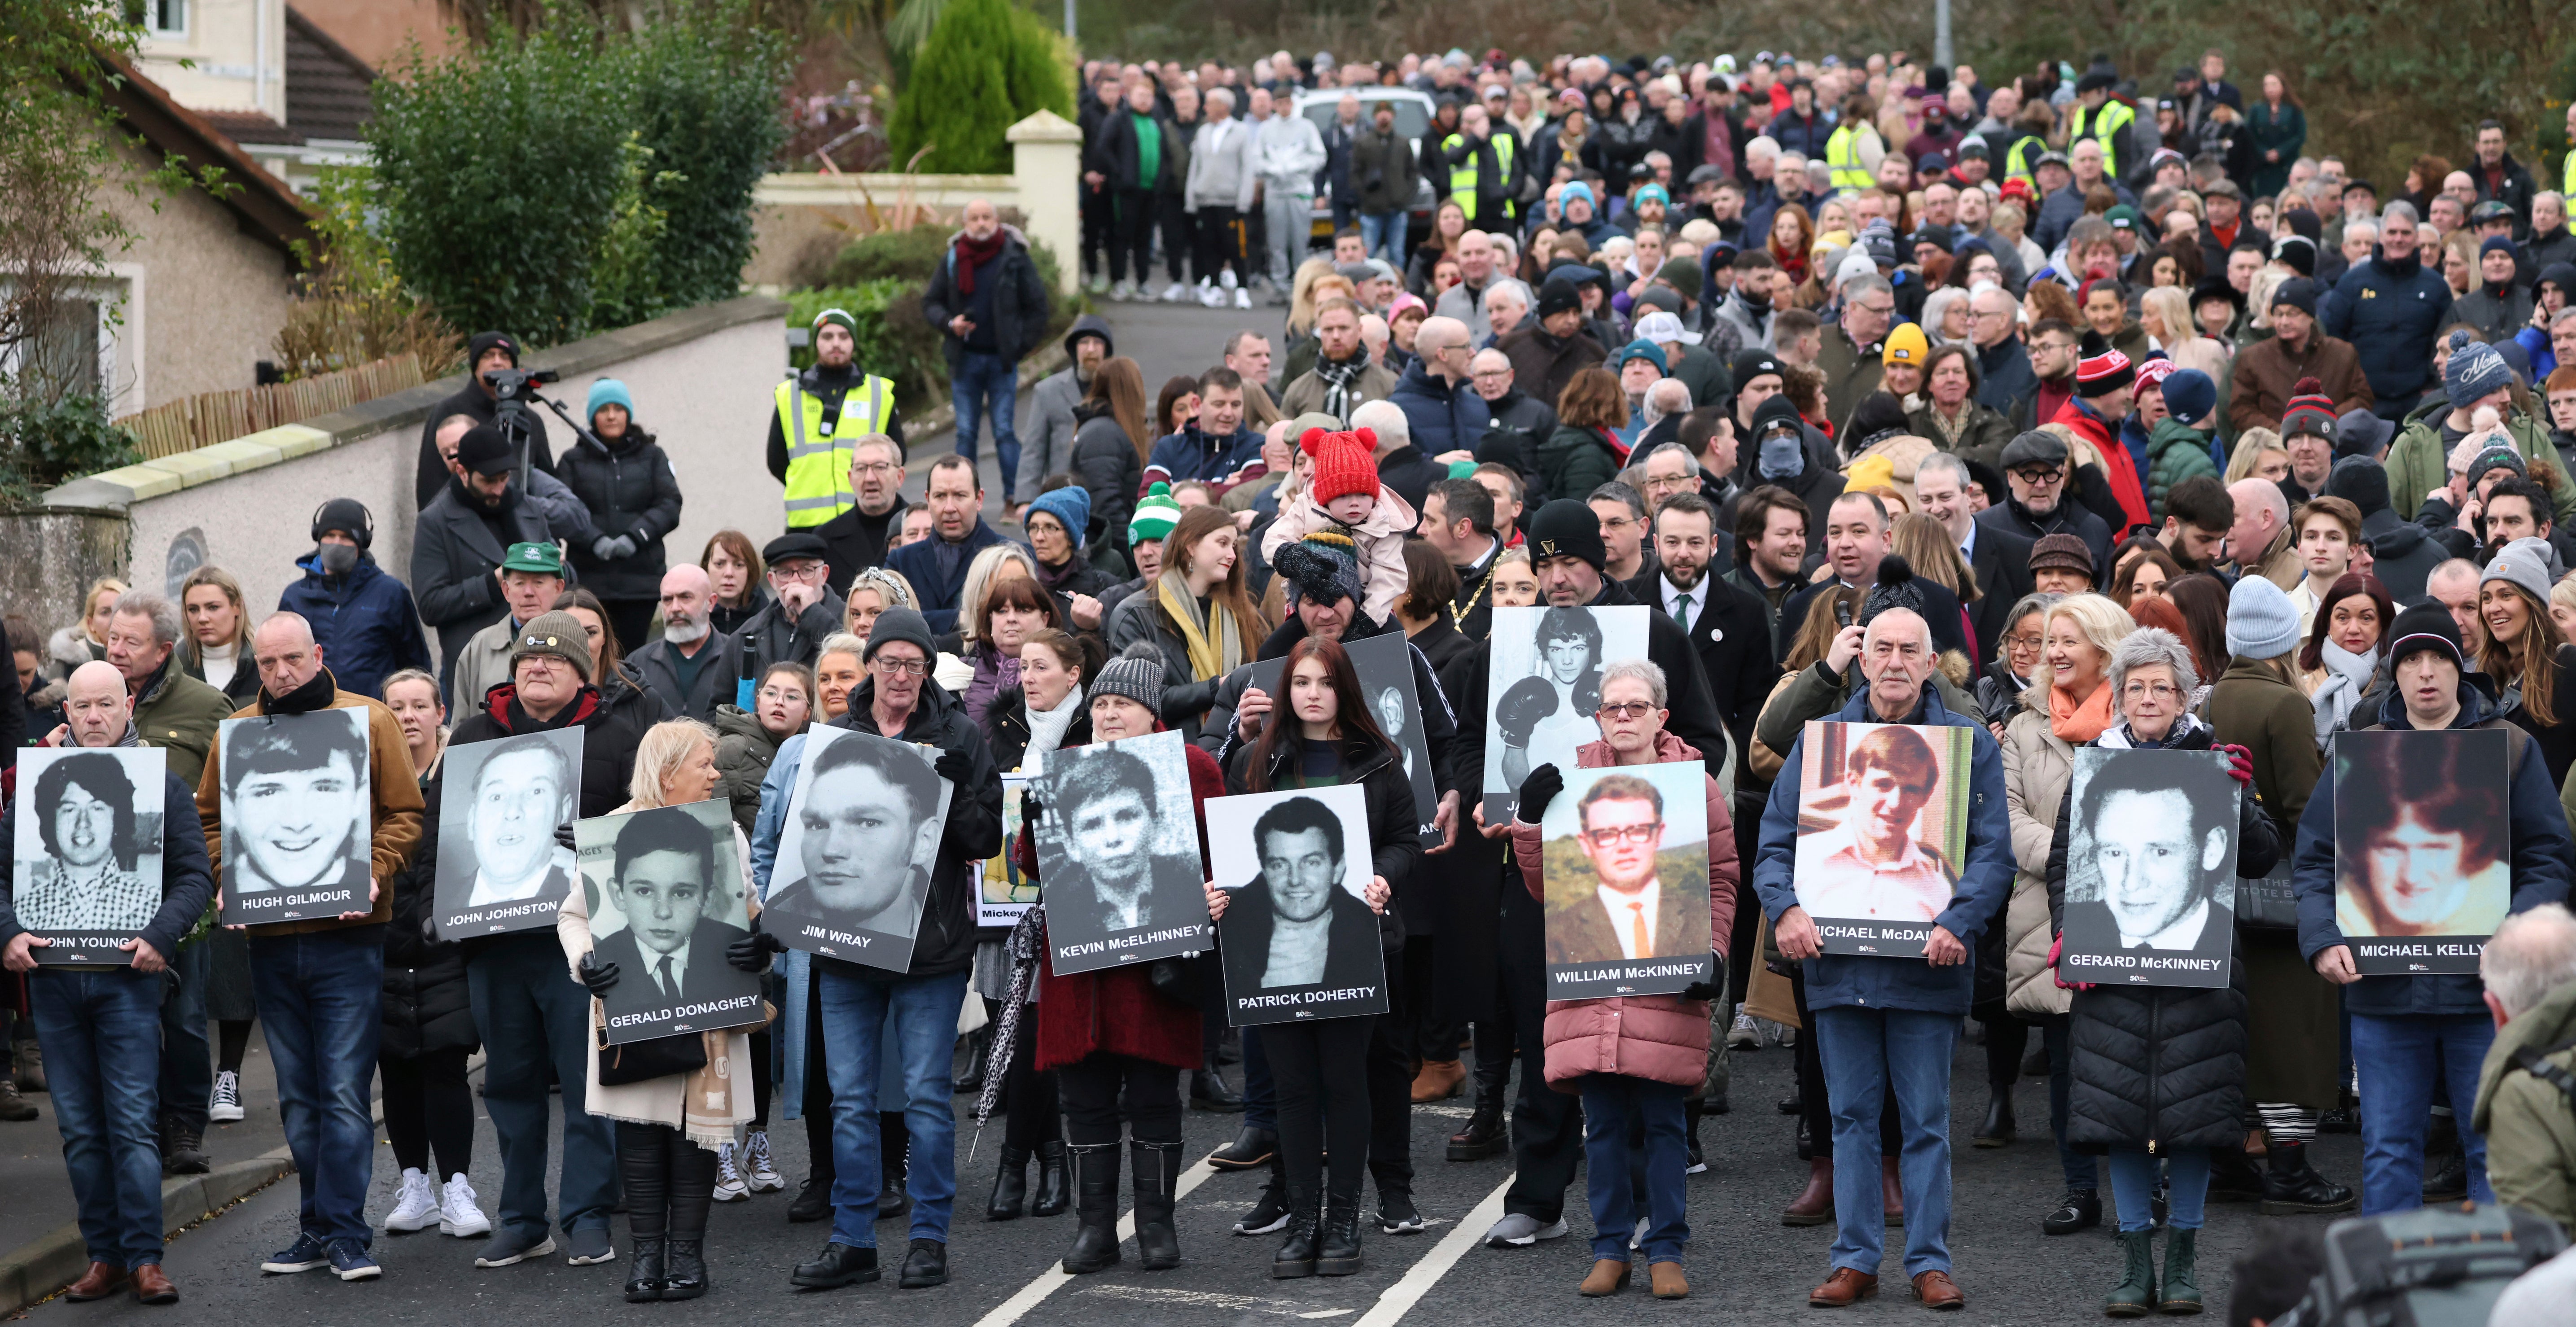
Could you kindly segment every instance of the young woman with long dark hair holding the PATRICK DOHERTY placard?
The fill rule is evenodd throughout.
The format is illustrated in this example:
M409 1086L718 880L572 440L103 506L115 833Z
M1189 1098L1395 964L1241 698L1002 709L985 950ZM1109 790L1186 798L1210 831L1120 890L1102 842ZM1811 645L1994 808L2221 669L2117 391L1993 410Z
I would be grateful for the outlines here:
M1376 874L1368 881L1368 907L1378 915L1378 940L1386 966L1399 964L1404 922L1386 902L1417 861L1422 840L1414 817L1414 786L1404 778L1404 758L1368 711L1358 670L1340 642L1306 636L1280 662L1283 696L1260 740L1242 747L1226 770L1229 794L1267 794L1275 788L1324 788L1358 783L1368 794L1368 843ZM1100 719L1092 716L1097 729ZM1229 894L1208 881L1208 915L1224 920ZM1370 1154L1370 1121L1396 1121L1409 1105L1394 1100L1370 1108L1368 1085L1388 1082L1404 1093L1409 1074L1360 1072L1368 1062L1381 1015L1316 1018L1262 1026L1262 1051L1278 1082L1280 1165L1288 1178L1288 1239L1270 1260L1270 1275L1350 1275L1360 1270L1360 1172ZM1324 1154L1332 1178L1324 1178ZM1381 1198L1386 1193L1381 1180ZM1412 1214L1381 1214L1381 1224ZM1417 1216L1419 1221L1419 1216Z

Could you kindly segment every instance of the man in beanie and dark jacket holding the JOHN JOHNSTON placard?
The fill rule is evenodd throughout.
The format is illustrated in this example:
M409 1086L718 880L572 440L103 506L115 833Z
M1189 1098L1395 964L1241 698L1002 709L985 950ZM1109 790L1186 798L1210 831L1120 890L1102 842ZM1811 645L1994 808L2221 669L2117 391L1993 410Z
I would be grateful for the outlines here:
M510 631L510 673L474 703L456 706L451 742L492 742L531 732L582 729L574 812L603 817L629 796L636 745L659 719L659 703L611 706L595 685L590 636L564 611L533 613ZM422 788L440 799L446 770ZM381 788L381 783L379 783ZM569 843L572 827L556 837ZM554 1221L572 1263L608 1263L611 1211L618 1196L616 1126L582 1098L590 1080L590 992L564 971L551 928L466 938L466 982L474 987L474 1031L489 1054L484 1108L500 1136L502 1188L492 1239L474 1257L507 1268L556 1252L546 1219L549 1080L562 1082L564 1157Z

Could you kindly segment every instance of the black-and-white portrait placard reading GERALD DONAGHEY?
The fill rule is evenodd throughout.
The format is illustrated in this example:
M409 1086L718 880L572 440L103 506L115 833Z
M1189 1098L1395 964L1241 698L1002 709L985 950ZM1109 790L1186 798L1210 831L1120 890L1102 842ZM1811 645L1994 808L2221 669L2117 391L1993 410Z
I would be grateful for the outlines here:
M618 966L600 995L608 1046L760 1023L760 974L724 961L750 933L726 801L572 822L590 897L590 953Z

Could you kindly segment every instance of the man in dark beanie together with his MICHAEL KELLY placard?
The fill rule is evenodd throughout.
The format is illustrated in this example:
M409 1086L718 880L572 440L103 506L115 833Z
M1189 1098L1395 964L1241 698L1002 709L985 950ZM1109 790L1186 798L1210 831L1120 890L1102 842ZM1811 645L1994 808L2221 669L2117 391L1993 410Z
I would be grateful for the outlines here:
M2298 819L2298 948L2321 977L2349 987L2352 1067L2362 1085L2362 1216L2424 1203L2434 1077L2450 1085L2450 1100L2478 1100L2478 1069L2496 1038L2481 1000L2478 951L2499 917L2491 902L2468 907L2483 879L2473 868L2486 858L2512 863L2509 912L2566 902L2576 874L2548 760L2463 678L2465 670L2447 608L2429 603L2398 613L2388 631L2396 696L2375 724L2336 737ZM2391 740L2406 742L2396 760L2372 747ZM2491 786L2501 770L2512 770L2504 822L2494 822L2491 794L2483 825L2463 817L2460 804L2476 801L2478 786ZM2450 868L2421 874L2432 858ZM2437 894L2458 902L2437 904ZM2470 912L2476 922L2450 920ZM2380 922L2375 935L2347 928L2362 917ZM2447 935L2409 933L2409 920L2439 922ZM2470 935L2463 925L2486 930ZM2491 1203L2486 1139L2465 1118L2460 1144L2470 1201Z

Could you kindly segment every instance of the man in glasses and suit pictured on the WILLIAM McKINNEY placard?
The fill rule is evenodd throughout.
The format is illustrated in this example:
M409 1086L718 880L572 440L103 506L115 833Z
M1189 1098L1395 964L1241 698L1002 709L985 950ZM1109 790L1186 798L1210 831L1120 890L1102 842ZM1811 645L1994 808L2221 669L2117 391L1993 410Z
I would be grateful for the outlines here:
M1705 881L1667 889L1654 874L1664 848L1664 794L1654 783L1633 773L1592 783L1574 804L1574 825L1592 879L1548 881L1551 966L1710 951Z

